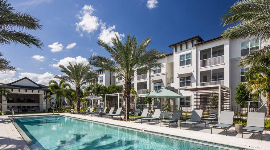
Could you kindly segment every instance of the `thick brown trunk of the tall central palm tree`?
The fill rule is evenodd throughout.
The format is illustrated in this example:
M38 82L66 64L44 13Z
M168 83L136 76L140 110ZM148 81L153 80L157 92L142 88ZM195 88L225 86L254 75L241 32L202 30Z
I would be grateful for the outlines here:
M125 80L125 120L129 120L129 109L130 109L130 89L131 89L131 80L126 79Z

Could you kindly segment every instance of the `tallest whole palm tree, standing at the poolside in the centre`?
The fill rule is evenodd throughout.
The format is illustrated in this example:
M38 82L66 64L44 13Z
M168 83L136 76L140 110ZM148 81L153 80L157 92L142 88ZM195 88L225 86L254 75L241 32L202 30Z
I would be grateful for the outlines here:
M129 105L130 105L130 89L131 89L131 78L133 75L137 75L136 70L140 69L142 72L148 72L149 69L155 67L163 67L163 65L157 62L157 58L166 56L165 53L159 52L157 49L151 49L146 51L146 47L150 43L150 38L144 39L140 45L137 45L137 38L135 36L130 37L128 34L125 42L122 41L115 35L111 41L113 46L106 44L104 41L99 40L98 45L106 49L111 57L107 58L104 56L92 55L89 58L91 65L103 68L110 72L117 73L116 77L124 78L125 87L125 120L129 119ZM151 65L150 65L151 64Z

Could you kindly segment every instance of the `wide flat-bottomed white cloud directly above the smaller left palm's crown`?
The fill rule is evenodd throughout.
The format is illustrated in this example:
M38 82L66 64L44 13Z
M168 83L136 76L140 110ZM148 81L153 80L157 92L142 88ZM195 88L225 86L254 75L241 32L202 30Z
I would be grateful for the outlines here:
M88 61L87 61L86 58L83 58L81 56L78 56L76 58L74 58L74 57L65 57L63 59L60 59L57 64L52 64L50 66L52 66L54 68L57 68L59 65L68 66L69 65L69 62L71 64L75 64L75 63L88 64Z

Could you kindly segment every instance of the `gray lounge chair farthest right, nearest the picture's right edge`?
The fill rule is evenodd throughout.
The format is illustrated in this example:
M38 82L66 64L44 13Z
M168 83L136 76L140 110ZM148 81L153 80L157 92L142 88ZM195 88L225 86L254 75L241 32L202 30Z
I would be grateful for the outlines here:
M242 129L242 138L243 138L243 132L250 132L250 133L260 133L263 140L264 119L265 119L265 113L248 112L247 126ZM266 130L265 130L265 134L266 134Z

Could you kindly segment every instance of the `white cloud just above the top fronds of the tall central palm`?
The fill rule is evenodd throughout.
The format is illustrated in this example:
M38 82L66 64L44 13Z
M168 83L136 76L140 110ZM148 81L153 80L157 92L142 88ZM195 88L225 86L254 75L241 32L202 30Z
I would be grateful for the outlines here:
M118 32L114 31L115 26L109 26L108 28L106 28L106 24L103 24L101 26L101 32L99 34L98 39L104 41L105 43L109 44L110 46L112 46L112 38L115 38L115 35L117 35L117 37L122 40L122 38L125 37L125 34L119 34Z

